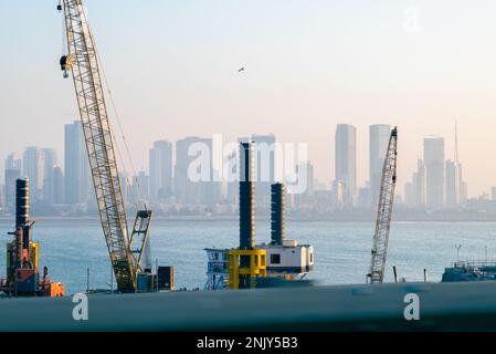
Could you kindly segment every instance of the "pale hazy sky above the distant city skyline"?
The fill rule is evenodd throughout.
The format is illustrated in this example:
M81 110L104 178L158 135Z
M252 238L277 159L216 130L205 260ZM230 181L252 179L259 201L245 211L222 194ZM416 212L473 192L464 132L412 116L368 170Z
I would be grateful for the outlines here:
M358 128L359 184L368 125L399 126L399 183L422 138L446 139L473 196L496 185L494 0L86 0L137 167L152 140L274 133L309 144L334 178L336 124ZM0 0L0 156L63 153L76 119L59 69L56 1ZM418 21L415 21L415 17ZM246 71L239 74L238 69ZM61 156L62 157L62 156Z

